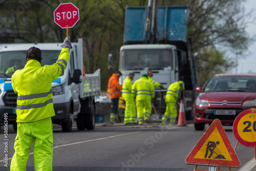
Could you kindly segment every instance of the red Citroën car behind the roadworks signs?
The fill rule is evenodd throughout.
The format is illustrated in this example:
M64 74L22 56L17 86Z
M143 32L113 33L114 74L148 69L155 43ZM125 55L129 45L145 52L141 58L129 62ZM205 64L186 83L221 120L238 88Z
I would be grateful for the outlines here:
M217 74L212 76L194 102L195 130L204 130L205 123L220 119L232 125L244 110L256 108L255 74Z

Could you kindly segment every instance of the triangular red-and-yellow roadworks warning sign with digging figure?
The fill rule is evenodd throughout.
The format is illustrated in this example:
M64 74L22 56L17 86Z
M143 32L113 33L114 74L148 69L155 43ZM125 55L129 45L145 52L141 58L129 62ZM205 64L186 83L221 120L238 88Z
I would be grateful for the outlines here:
M240 161L219 119L215 119L187 156L187 164L239 167Z

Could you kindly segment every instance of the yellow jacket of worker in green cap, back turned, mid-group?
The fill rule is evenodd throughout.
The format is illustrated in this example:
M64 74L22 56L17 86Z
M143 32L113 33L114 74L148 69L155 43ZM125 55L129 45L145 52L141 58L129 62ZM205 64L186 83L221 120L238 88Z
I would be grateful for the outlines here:
M155 97L155 88L146 77L141 77L133 83L132 94L136 101L151 100Z

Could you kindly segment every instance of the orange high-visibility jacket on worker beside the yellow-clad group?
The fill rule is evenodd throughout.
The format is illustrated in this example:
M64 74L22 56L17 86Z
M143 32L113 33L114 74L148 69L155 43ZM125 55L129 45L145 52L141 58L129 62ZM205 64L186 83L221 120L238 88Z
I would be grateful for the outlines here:
M122 86L119 85L118 77L116 74L113 74L110 77L109 84L108 84L108 92L109 92L110 98L113 99L113 98L121 97L122 95L121 90L122 90Z

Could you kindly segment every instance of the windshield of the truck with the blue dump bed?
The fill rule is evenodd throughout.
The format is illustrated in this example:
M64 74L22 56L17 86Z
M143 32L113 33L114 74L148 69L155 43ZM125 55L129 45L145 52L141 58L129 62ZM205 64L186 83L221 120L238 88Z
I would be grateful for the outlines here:
M170 49L125 49L120 55L120 70L173 69Z

